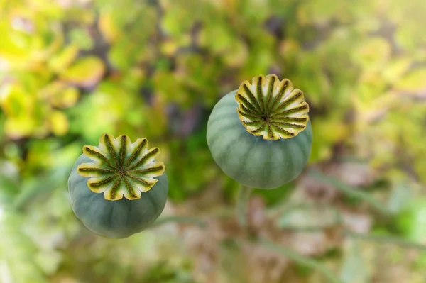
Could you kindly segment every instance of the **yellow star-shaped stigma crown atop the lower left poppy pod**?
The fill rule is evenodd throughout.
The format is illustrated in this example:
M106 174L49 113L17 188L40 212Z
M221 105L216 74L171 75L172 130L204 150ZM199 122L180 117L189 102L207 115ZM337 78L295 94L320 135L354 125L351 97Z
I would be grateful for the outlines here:
M83 163L77 172L88 177L87 187L92 192L104 193L104 198L116 201L140 199L141 192L149 191L165 171L163 162L155 162L160 149L148 149L148 140L140 138L136 142L126 135L118 138L103 134L99 147L84 145L84 155L93 162Z

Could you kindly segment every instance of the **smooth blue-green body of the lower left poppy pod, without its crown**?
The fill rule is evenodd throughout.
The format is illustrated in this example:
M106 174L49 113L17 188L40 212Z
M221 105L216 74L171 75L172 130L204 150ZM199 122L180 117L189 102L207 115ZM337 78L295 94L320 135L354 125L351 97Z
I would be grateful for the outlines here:
M91 161L80 155L68 179L72 211L90 231L108 238L127 238L143 231L160 216L168 195L165 174L155 177L158 182L143 192L140 199L109 201L104 199L104 194L92 192L87 187L89 178L77 172L79 165Z

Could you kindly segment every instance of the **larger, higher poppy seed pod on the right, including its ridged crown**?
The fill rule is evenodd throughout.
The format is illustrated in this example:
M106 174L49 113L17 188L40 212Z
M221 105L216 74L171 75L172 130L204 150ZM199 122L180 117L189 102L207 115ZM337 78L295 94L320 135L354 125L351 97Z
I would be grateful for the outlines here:
M310 157L312 128L303 92L275 74L245 81L214 106L207 144L237 182L275 189L295 179Z

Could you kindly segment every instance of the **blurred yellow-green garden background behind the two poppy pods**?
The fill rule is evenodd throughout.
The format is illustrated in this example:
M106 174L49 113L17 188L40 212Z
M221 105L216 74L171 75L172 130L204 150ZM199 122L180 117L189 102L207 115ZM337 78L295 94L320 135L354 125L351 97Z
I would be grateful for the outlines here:
M426 282L425 18L423 0L0 0L0 282ZM283 250L245 240L205 139L257 74L311 107L309 165L249 204ZM105 132L148 138L170 180L163 224L125 240L67 194Z

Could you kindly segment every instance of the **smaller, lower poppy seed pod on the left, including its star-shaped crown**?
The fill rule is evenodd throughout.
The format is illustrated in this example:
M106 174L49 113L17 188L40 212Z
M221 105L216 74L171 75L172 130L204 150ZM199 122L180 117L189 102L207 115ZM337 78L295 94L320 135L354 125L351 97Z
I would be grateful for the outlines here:
M131 143L126 135L104 134L99 147L85 145L75 162L68 190L72 211L90 231L126 238L143 231L160 216L168 195L158 148L148 140Z

